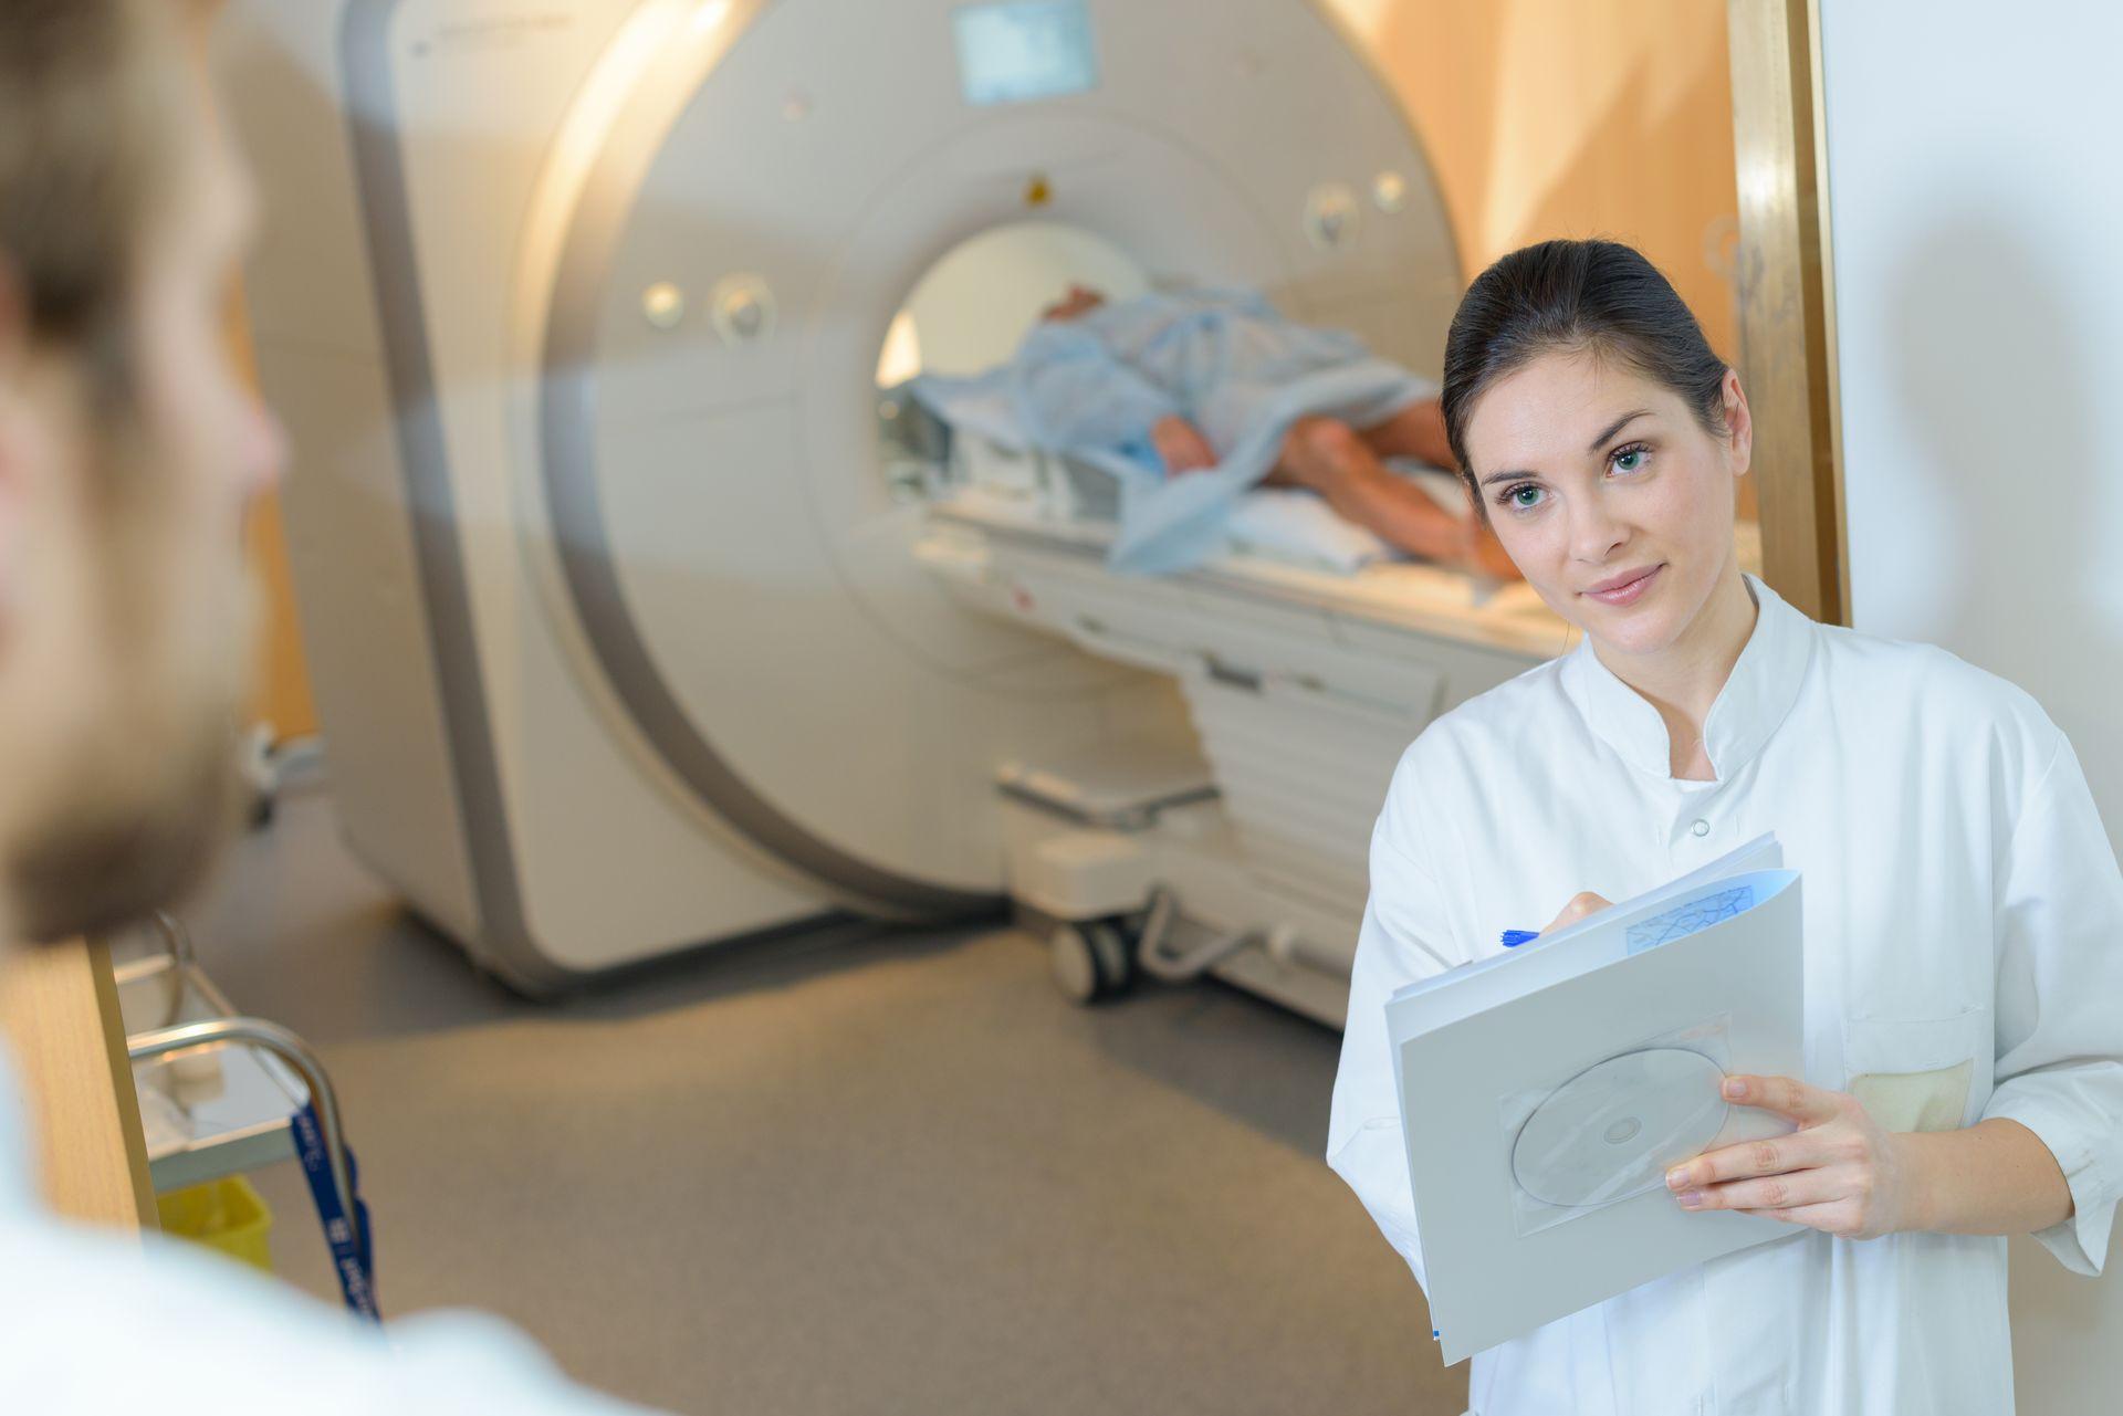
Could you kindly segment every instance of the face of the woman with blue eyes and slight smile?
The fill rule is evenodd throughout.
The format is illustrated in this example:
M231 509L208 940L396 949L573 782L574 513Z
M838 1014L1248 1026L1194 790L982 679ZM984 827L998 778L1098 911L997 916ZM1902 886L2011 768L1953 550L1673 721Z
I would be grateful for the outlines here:
M1605 647L1669 650L1732 560L1751 425L1726 374L1726 435L1677 393L1554 352L1475 399L1465 448L1497 539L1558 616Z

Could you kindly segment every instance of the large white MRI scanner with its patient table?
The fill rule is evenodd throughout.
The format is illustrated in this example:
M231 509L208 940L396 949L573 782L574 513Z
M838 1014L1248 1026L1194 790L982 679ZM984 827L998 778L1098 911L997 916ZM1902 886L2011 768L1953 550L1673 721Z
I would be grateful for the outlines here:
M1442 202L1331 13L238 0L217 45L338 809L414 911L552 991L1015 900L1078 994L1140 951L1340 1021L1395 758L1565 626L1412 563L1117 577L1110 522L896 473L877 386L977 246L972 323L1136 272L1435 374Z

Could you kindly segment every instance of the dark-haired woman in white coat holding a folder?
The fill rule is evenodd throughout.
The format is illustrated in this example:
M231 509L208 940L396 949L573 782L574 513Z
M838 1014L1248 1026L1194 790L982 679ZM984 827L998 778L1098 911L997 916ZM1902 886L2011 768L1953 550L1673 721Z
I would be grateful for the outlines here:
M1478 1354L1471 1408L2010 1412L2000 1236L2098 1274L2123 1193L2123 879L2070 743L2019 688L1741 573L1747 399L1635 251L1484 272L1444 408L1503 548L1584 639L1401 758L1329 1163L1420 1280L1386 998L1775 830L1807 885L1805 1078L1726 1089L1796 1129L1669 1187L1792 1236Z

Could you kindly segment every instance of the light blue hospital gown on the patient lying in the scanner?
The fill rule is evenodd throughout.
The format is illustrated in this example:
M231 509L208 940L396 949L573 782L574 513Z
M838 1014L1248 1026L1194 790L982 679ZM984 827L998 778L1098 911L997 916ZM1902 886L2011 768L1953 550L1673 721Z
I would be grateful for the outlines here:
M1274 469L1297 418L1371 427L1435 384L1352 333L1282 318L1253 291L1183 291L1042 321L1000 369L921 376L913 391L953 427L1110 471L1121 531L1108 565L1170 573L1223 550L1225 518ZM1214 467L1166 476L1149 435L1168 414L1202 431Z

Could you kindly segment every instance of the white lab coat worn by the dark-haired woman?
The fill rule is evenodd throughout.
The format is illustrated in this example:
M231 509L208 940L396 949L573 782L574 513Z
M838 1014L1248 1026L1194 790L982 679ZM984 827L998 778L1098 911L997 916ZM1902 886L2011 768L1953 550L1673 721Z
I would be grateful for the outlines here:
M1775 830L1805 873L1805 1081L1889 1132L2023 1123L2074 1202L2036 1238L2098 1274L2123 1191L2123 879L2078 758L2010 684L1747 586L1760 616L1705 720L1715 781L1671 775L1658 711L1590 641L1403 754L1371 836L1329 1163L1422 1280L1386 998L1582 890L1620 900ZM1998 1416L2006 1242L1794 1229L1475 1354L1469 1401Z

